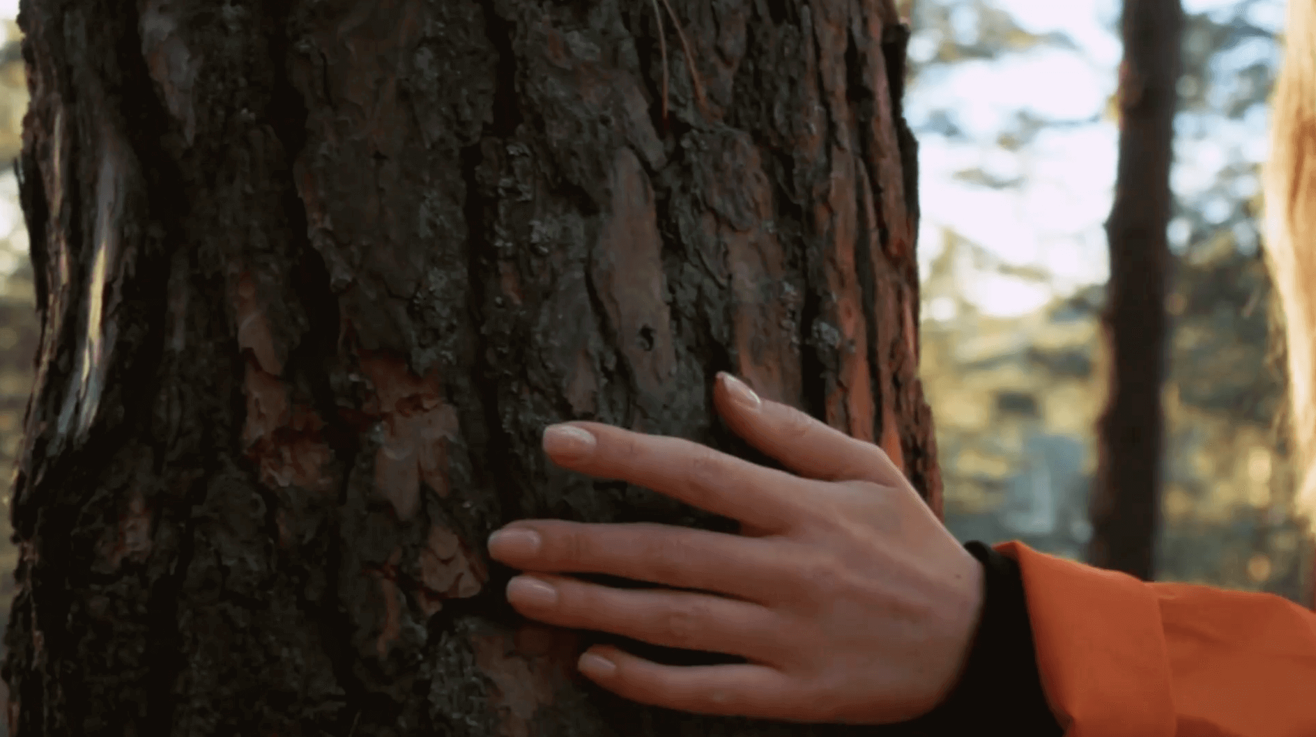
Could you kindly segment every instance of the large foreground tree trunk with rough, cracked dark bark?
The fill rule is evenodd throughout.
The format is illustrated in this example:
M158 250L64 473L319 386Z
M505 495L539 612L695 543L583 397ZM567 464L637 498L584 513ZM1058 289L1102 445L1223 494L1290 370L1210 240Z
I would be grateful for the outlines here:
M747 455L719 370L940 509L907 29L670 3L24 0L14 734L840 729L624 704L484 553L729 529L540 450L591 419Z

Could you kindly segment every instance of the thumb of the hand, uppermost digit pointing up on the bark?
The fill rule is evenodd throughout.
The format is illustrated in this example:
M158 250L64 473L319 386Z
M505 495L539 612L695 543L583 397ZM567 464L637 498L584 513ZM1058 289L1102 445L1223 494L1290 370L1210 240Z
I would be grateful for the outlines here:
M853 438L794 407L767 400L755 404L750 397L757 399L757 395L730 374L717 375L713 397L722 420L736 434L801 476L826 482L869 480L882 486L905 483L900 470L876 445Z

